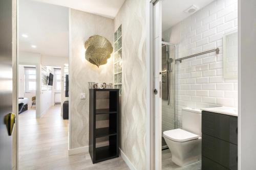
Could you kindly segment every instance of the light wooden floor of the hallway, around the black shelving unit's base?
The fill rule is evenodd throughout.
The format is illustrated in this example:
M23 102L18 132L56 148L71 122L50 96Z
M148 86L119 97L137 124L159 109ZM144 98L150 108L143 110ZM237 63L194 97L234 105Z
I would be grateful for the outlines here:
M19 170L118 169L129 168L121 157L92 164L89 154L68 155L68 120L60 107L51 107L41 118L35 110L19 114Z

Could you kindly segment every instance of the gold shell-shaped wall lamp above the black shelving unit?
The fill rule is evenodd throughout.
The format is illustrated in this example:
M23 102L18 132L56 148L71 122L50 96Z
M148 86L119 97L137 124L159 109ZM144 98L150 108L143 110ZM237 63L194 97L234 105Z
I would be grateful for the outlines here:
M84 47L86 48L86 59L98 67L106 64L113 52L113 47L110 41L100 35L89 37L84 43Z

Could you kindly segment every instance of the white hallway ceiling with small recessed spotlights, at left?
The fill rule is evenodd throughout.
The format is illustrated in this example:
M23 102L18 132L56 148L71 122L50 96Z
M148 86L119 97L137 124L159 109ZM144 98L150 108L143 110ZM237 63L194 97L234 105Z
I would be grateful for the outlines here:
M20 51L68 57L68 8L20 0L18 28ZM23 34L28 37L23 37ZM31 45L36 45L36 48L32 48Z

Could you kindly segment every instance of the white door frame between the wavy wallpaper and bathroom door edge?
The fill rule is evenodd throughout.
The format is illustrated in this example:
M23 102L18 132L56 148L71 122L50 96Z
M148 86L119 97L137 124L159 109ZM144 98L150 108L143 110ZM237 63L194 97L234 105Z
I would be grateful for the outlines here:
M154 5L161 0L146 0L146 70L147 70L147 90L146 90L146 169L159 169L159 159L156 157L156 137L158 132L155 116L155 94L154 94ZM156 129L157 128L157 129ZM159 169L160 170L160 169Z

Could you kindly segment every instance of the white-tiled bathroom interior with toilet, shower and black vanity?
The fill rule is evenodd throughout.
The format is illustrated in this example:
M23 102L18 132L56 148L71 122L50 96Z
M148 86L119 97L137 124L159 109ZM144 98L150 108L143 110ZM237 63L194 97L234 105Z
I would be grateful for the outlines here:
M238 1L163 0L155 8L162 22L162 169L238 169ZM209 151L209 140L229 154L210 156L220 151Z

